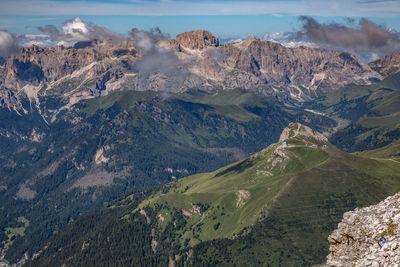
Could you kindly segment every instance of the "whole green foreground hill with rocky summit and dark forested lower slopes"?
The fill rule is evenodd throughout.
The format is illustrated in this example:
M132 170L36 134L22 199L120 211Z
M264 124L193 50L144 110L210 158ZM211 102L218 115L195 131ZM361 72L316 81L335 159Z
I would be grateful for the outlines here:
M398 191L400 163L291 123L247 159L82 216L27 266L309 266L325 261L345 211Z

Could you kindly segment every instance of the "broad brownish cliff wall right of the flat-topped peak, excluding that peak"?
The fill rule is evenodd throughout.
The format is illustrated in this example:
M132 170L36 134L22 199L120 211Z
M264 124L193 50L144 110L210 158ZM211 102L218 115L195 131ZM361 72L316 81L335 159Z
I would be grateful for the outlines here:
M309 47L288 48L251 38L222 47L226 64L251 73L275 86L317 88L321 83L338 88L346 83L365 84L380 75L349 53Z

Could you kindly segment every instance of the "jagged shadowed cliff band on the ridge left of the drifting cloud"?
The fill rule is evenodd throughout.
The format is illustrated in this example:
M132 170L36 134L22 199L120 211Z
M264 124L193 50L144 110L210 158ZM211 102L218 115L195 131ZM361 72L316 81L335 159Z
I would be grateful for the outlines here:
M74 47L23 48L11 56L6 63L6 79L38 84L41 81L53 82L91 63L106 57L134 56L133 42L115 44L105 42L81 42Z

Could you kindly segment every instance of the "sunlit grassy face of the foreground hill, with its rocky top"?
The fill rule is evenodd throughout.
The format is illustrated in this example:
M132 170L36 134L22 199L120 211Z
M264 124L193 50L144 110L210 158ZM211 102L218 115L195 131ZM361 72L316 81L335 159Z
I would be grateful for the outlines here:
M215 172L170 183L139 208L164 204L182 210L187 224L181 239L189 238L190 244L233 237L268 213L293 175L323 164L332 149L323 136L306 126L291 124L280 142ZM164 224L168 213L160 213L166 218ZM193 228L201 231L194 233Z

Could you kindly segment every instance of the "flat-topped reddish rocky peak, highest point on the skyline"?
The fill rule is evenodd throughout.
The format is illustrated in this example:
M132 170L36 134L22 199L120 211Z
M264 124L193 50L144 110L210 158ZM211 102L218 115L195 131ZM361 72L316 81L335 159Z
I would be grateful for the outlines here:
M218 38L205 30L195 30L178 34L176 40L181 46L189 49L202 50L207 47L219 46Z

